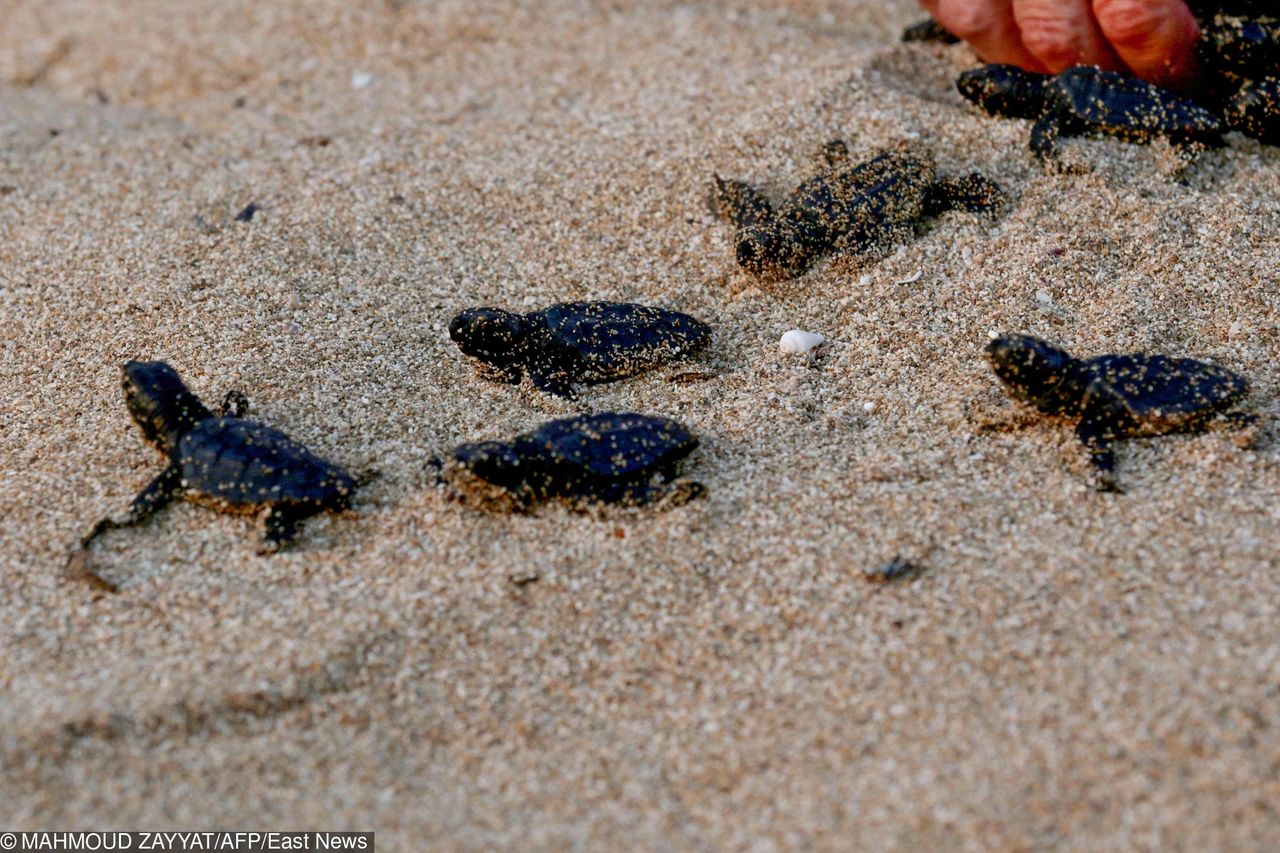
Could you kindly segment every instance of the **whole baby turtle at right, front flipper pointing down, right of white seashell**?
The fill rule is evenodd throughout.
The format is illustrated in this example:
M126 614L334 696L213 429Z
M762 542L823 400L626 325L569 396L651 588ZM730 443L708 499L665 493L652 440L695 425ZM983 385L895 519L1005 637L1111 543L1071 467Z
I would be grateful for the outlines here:
M1252 421L1229 411L1249 383L1194 359L1144 353L1073 359L1025 334L995 338L987 359L1015 400L1047 415L1080 419L1075 434L1089 450L1101 491L1120 491L1112 447L1119 439L1201 432L1216 415Z

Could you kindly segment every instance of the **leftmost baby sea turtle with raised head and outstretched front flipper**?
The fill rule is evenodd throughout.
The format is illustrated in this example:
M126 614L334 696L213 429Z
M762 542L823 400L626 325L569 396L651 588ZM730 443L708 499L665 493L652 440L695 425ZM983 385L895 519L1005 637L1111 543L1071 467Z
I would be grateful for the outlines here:
M106 530L141 524L179 497L220 512L261 512L264 553L288 546L303 519L349 506L356 480L280 430L246 420L238 392L219 416L164 361L129 361L123 374L129 414L168 465L123 520L90 529L81 553Z

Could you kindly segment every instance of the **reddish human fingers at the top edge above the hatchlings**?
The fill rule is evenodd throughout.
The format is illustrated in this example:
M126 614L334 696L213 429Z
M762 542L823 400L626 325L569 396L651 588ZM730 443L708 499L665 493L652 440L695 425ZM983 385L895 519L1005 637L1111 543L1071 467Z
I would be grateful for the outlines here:
M1183 0L920 0L988 63L1057 73L1071 65L1128 70L1169 88L1198 73L1199 28Z

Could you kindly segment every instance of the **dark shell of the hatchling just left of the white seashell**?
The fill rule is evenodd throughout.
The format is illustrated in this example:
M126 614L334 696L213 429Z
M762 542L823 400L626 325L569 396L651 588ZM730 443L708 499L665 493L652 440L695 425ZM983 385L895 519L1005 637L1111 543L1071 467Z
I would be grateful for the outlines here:
M562 302L536 313L579 357L575 378L621 379L707 345L710 327L680 311L631 302Z

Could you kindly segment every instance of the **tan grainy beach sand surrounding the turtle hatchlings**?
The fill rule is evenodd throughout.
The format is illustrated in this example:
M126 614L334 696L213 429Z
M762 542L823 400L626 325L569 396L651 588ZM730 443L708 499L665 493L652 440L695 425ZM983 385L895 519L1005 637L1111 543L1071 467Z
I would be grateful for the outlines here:
M536 6L536 9L531 8ZM0 824L372 829L384 850L1280 847L1280 154L1069 143L902 46L910 3L17 0L0 22ZM1009 205L760 284L713 173L910 141ZM236 214L260 206L248 222ZM708 496L477 512L428 461L573 403L477 378L475 304L695 314L667 414ZM778 337L831 343L810 360ZM992 332L1249 377L1251 446L1016 420ZM352 470L255 553L178 505L119 369ZM684 373L695 377L681 377ZM895 555L923 571L873 585Z

